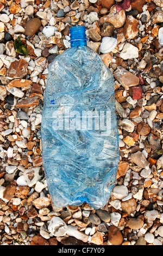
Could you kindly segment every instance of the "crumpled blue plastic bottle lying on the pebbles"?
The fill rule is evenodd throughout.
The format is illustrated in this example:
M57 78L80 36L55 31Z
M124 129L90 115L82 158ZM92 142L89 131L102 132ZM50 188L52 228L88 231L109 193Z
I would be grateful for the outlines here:
M55 206L108 203L119 161L114 79L87 47L84 26L49 65L42 112L42 160Z

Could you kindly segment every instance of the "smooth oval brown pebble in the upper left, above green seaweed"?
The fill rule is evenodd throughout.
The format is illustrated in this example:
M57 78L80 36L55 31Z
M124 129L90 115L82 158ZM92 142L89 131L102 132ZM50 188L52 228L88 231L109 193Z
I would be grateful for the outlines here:
M41 26L40 19L38 18L30 19L26 23L26 31L25 31L26 35L29 35L29 37L31 37L39 30L40 26Z

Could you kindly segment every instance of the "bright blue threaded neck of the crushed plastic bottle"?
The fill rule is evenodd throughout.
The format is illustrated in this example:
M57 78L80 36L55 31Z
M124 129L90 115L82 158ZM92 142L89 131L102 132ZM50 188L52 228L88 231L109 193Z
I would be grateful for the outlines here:
M86 46L87 38L84 26L74 26L70 28L70 43L71 47Z

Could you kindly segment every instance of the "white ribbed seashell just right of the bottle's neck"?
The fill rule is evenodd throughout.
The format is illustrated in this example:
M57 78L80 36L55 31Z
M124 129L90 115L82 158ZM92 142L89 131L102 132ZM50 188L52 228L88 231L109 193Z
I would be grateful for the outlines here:
M108 53L115 49L117 45L117 39L114 37L103 37L100 45L100 51L102 53Z

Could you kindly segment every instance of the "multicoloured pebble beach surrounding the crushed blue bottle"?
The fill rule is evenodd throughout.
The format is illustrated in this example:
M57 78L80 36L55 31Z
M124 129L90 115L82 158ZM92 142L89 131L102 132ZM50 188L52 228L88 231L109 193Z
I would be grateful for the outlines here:
M56 207L42 165L48 66L77 25L114 75L120 162L97 210ZM162 0L0 0L0 245L163 245L162 120Z

